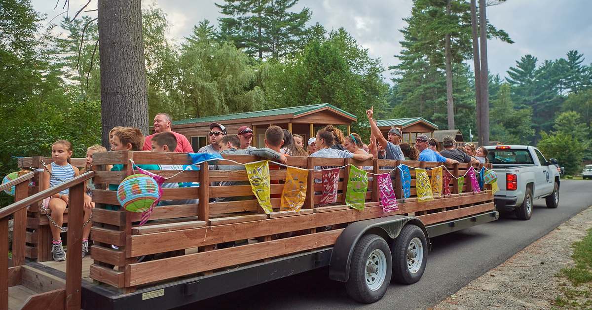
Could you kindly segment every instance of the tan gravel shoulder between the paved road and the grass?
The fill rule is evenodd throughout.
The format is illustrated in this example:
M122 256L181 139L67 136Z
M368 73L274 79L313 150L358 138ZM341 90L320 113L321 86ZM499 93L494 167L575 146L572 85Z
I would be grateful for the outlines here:
M516 225L519 225L517 222ZM509 260L473 280L432 309L552 309L558 287L571 283L557 275L574 265L572 244L592 228L592 206Z

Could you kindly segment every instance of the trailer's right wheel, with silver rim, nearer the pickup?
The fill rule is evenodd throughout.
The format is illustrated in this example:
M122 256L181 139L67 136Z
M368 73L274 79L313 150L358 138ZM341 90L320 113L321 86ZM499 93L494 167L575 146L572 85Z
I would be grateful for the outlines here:
M392 250L392 276L401 284L412 284L422 279L427 263L427 240L422 229L406 225L395 239Z

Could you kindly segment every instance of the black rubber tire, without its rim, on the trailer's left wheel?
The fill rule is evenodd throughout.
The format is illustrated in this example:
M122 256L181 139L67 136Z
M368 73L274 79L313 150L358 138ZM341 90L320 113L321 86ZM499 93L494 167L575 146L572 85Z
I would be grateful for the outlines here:
M384 282L377 290L371 290L366 284L366 261L374 250L381 250L387 259L387 274ZM349 267L349 279L345 283L346 292L357 302L372 303L379 301L387 292L391 283L392 257L387 241L379 235L363 235L355 245L352 254L352 262Z

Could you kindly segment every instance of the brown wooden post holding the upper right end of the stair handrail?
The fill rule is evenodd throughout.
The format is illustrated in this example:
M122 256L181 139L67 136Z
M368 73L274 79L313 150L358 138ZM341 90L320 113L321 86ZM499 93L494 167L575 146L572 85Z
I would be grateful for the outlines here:
M81 308L82 222L84 218L84 182L70 188L68 206L68 254L66 257L66 309Z

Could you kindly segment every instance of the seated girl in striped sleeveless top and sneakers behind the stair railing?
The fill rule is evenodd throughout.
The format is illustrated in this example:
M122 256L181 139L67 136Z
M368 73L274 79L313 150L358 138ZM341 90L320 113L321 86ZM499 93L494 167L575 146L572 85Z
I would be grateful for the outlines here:
M45 167L43 178L44 189L58 186L80 174L78 168L70 165L70 157L72 157L72 143L68 140L57 140L53 143L53 162ZM52 210L52 219L57 225L53 225L52 223L49 225L49 228L52 230L52 255L55 261L66 259L66 253L62 247L62 238L60 237L60 227L64 222L64 211L69 204L69 191L69 188L66 188L54 194L49 200L46 199L43 201L44 207Z

